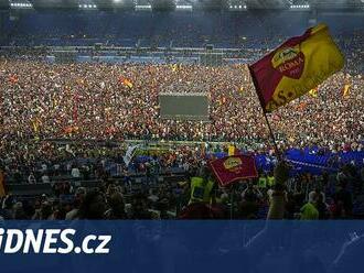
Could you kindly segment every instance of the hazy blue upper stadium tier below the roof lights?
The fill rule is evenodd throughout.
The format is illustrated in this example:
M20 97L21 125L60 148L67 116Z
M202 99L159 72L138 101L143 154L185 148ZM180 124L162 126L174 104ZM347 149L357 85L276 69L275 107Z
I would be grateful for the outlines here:
M12 45L94 45L217 47L270 46L303 32L309 12L100 12L29 11L6 17L6 39ZM362 13L319 13L317 22L330 25L333 34L351 39L362 31Z

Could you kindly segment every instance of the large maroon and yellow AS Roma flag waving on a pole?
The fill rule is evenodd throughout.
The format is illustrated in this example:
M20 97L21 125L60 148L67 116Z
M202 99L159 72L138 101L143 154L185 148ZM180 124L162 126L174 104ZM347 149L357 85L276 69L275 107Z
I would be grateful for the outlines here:
M291 37L249 66L266 112L287 105L319 86L344 66L344 57L324 24Z

